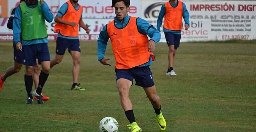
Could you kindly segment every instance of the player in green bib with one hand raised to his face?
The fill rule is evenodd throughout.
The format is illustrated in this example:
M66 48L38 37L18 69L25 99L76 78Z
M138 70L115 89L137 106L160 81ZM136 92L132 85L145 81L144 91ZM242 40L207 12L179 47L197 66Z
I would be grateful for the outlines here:
M52 22L53 14L44 0L27 0L16 8L13 20L13 38L16 49L22 51L22 64L26 65L24 76L28 94L26 104L33 104L32 74L33 66L37 65L36 59L42 65L42 71L35 94L38 104L44 103L41 93L50 73L50 53L45 20Z

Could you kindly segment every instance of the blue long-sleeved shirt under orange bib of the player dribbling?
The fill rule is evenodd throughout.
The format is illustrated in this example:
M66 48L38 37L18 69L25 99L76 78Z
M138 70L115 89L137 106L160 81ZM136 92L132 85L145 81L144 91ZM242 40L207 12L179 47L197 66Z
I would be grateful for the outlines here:
M114 18L115 19L115 26L117 28L123 28L125 27L130 19L130 16L125 16L123 23L117 19L117 17ZM146 34L148 35L151 39L155 41L155 43L159 42L161 39L161 34L160 32L152 25L150 24L148 21L142 19L142 18L138 18L136 21L137 25L138 25L138 31L141 34ZM106 29L106 25L103 27L102 31L99 34L99 38L98 38L98 60L101 60L104 58L105 56L105 52L107 49L107 42L109 40L109 36L107 33L107 29ZM150 58L149 62L140 65L140 67L142 66L150 66L152 64L152 58Z

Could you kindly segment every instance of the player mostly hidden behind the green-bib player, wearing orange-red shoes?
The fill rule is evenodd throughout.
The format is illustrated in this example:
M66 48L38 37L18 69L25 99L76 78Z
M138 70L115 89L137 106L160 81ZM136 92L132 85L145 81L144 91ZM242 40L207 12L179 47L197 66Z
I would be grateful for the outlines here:
M25 0L20 0L20 2L23 2ZM7 22L7 28L13 30L13 19L14 19L14 13L15 13L16 8L14 8L12 10L11 16ZM14 50L14 66L11 66L9 68L7 68L6 72L4 75L0 75L0 91L3 88L3 84L5 82L5 80L12 76L15 73L20 72L21 67L22 67L22 61L23 61L23 57L22 57L22 51L19 51L16 49L15 43L13 43L13 50ZM39 82L39 74L40 74L40 69L41 67L38 64L37 61L37 65L33 67L34 68L34 73L33 73L33 80L35 82L35 87L38 87L38 82ZM44 101L49 100L49 97L46 97L42 94L42 98ZM35 100L37 99L36 97L34 98Z

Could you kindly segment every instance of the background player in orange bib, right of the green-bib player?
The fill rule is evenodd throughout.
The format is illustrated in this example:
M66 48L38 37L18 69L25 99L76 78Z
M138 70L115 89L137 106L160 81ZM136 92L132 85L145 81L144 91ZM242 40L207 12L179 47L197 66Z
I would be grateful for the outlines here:
M58 33L56 56L51 60L51 68L61 63L65 50L68 49L73 59L73 84L72 89L85 90L78 83L80 71L81 49L79 44L78 25L89 34L90 29L84 24L82 19L82 6L78 4L78 0L68 0L64 3L55 17L54 32Z

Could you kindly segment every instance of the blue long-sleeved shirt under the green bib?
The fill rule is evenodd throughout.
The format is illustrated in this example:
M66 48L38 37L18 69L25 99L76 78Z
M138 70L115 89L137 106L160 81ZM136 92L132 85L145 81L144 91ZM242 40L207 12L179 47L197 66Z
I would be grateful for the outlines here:
M38 6L38 3L33 4L33 5L28 4L28 3L26 3L26 4L30 8L35 8L36 6ZM39 5L40 5L40 3L39 3ZM50 8L49 8L49 6L47 5L46 2L44 2L44 5L41 5L41 9L42 9L43 15L45 16L45 20L47 22L52 22L53 21L53 14L51 13L51 10L50 10ZM20 36L21 36L21 22L22 22L21 19L22 19L22 16L21 16L20 6L18 6L16 8L14 16L15 17L13 19L13 38L14 38L14 43L15 44L17 44L18 42L21 42L22 46L26 46L26 45L35 45L35 44L40 44L40 43L48 43L48 38L35 39L35 40L30 40L30 41L21 40Z

